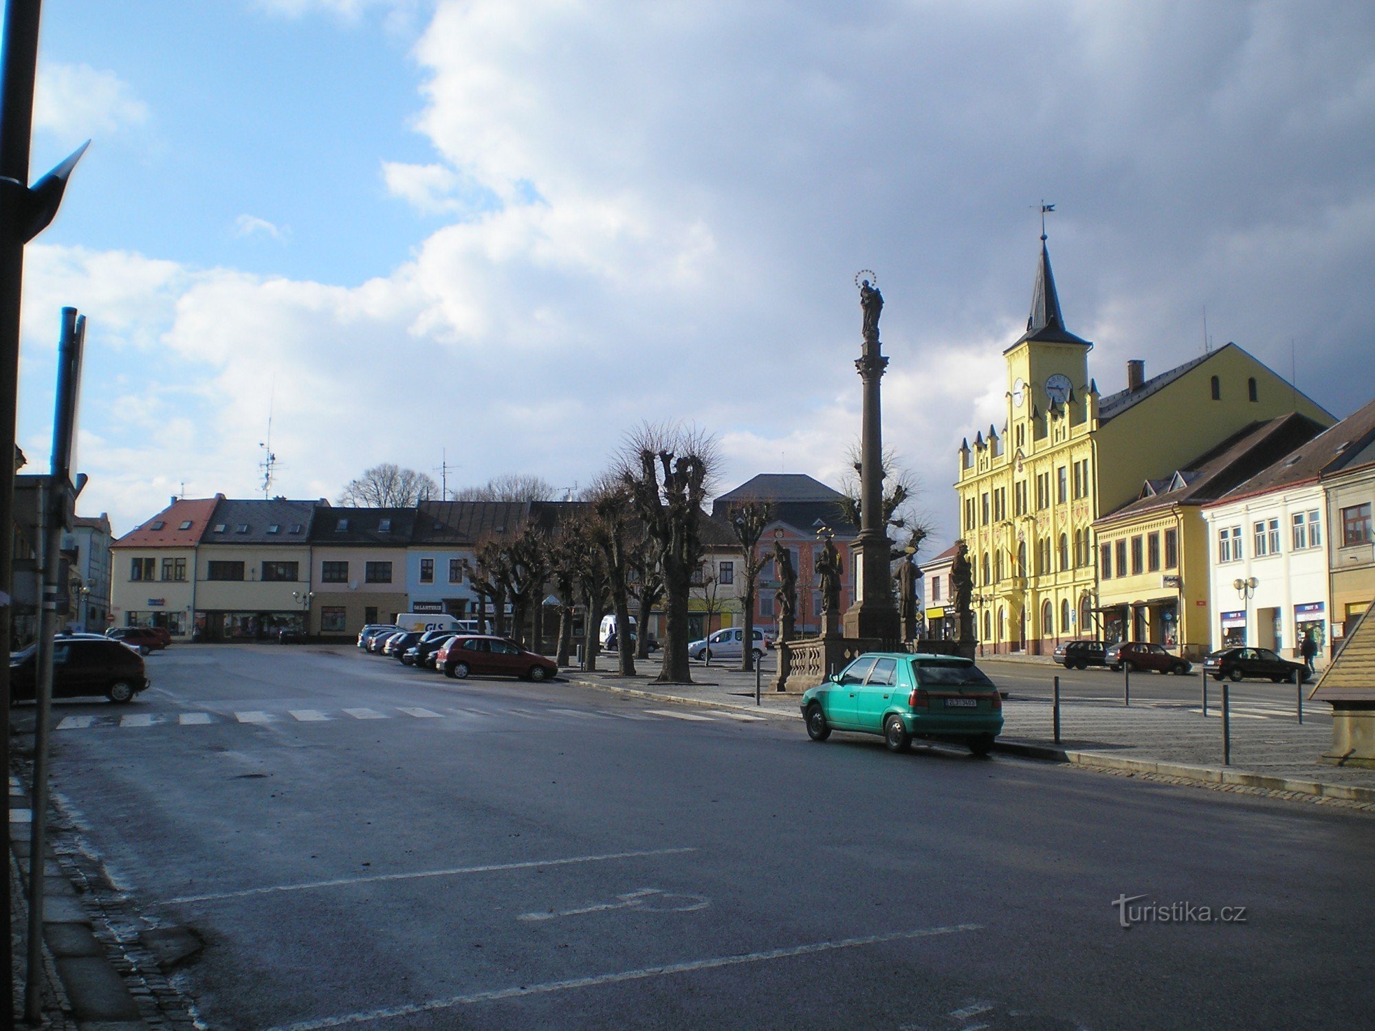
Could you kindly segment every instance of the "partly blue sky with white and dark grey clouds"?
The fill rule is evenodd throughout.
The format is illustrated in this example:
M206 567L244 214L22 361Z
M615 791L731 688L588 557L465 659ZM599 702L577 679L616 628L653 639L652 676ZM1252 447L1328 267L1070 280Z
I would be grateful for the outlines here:
M337 499L396 462L558 488L711 433L719 491L839 487L855 272L884 443L936 550L1002 423L1040 205L1121 389L1235 341L1336 417L1375 396L1375 5L1094 0L47 0L23 472L88 318L78 511ZM271 437L268 432L271 428Z

